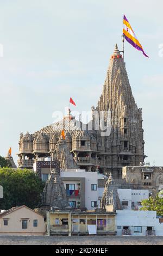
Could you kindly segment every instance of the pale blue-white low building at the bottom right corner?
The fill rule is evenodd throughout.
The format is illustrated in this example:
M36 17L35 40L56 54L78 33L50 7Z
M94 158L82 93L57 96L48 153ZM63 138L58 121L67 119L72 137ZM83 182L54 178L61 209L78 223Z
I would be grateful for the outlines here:
M120 211L117 210L117 235L163 235L163 223L156 218L156 211Z

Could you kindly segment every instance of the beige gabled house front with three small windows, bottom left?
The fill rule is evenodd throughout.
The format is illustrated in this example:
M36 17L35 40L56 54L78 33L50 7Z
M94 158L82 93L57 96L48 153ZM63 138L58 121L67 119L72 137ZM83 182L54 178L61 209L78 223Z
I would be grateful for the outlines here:
M4 219L8 219L8 225L4 225ZM27 229L22 229L23 219L28 220ZM37 227L33 227L34 220L37 220ZM44 235L45 231L43 216L25 206L0 218L0 235Z

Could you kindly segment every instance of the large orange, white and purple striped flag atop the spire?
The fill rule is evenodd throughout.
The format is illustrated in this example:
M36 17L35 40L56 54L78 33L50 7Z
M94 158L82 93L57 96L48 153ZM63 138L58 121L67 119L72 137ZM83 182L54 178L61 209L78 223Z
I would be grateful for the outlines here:
M137 39L133 29L130 26L129 21L125 15L123 17L123 35L124 35L124 38L129 42L129 44L134 46L137 50L142 51L142 53L146 57L148 57L147 54L144 52L143 47L141 46L139 40Z

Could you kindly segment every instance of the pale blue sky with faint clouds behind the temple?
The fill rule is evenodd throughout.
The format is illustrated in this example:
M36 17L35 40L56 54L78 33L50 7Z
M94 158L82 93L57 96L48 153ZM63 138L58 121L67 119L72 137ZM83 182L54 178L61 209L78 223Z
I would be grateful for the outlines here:
M17 163L20 133L53 123L53 112L97 105L126 15L149 59L125 42L125 62L142 108L146 162L163 166L163 2L0 0L0 155ZM162 45L161 45L162 44ZM160 47L160 48L159 48Z

